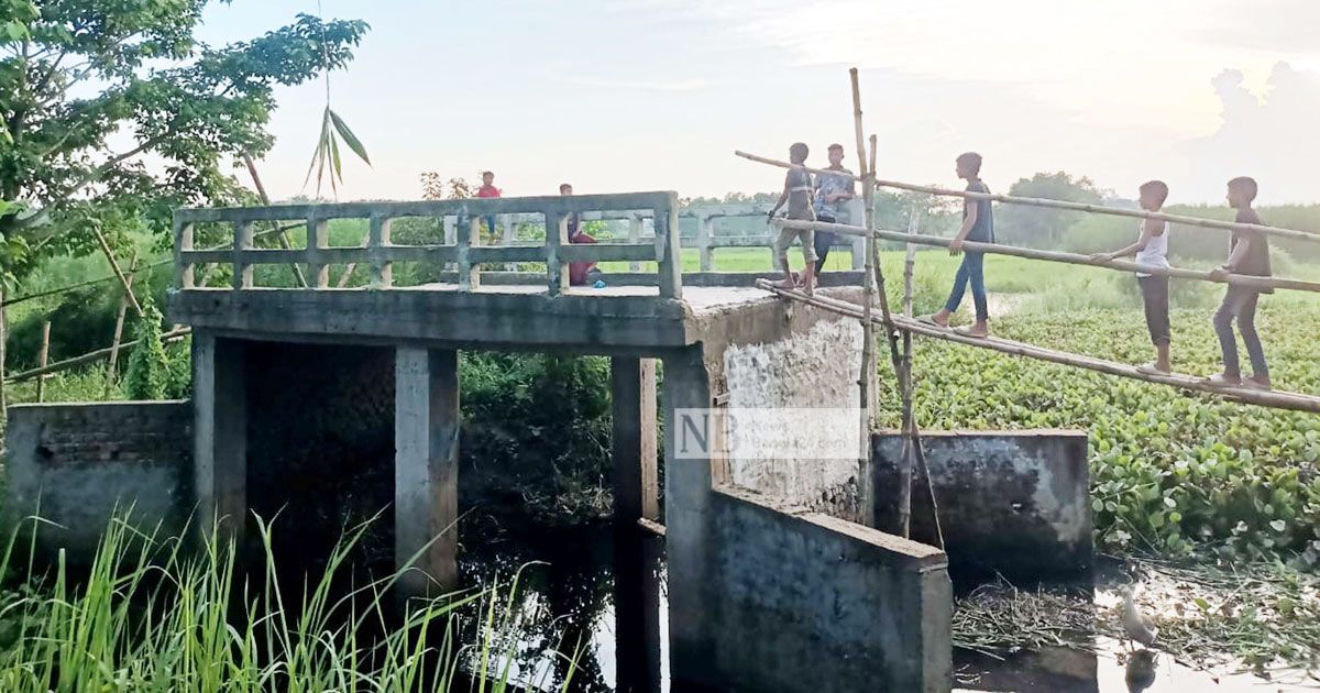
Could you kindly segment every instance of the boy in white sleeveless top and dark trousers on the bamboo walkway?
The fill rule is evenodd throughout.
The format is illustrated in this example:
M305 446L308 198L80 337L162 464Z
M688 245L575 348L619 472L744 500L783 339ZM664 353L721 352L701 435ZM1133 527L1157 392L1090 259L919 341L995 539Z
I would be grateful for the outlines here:
M1163 181L1147 181L1142 183L1138 199L1143 210L1159 211L1168 199L1168 185ZM1137 264L1142 267L1168 269L1168 222L1143 219L1139 231L1137 243L1114 252L1100 252L1092 257L1117 260L1135 255ZM1151 334L1151 343L1155 345L1155 362L1138 366L1137 370L1147 375L1168 374L1172 371L1168 359L1168 275L1137 272L1137 284L1142 289L1142 304L1146 306L1146 329Z

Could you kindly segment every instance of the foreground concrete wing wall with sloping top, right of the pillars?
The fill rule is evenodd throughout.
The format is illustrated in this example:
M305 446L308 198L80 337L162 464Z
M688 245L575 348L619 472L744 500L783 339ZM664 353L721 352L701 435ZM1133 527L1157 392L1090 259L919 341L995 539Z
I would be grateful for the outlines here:
M952 586L940 550L718 487L704 614L723 690L949 690Z

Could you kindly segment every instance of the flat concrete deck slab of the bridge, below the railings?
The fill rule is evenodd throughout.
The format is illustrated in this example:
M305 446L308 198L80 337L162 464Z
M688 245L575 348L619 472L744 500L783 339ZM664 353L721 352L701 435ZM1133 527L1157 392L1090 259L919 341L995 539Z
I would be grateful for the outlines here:
M389 290L194 288L172 292L168 305L176 323L248 339L657 354L722 330L722 315L776 301L754 286L685 286L676 300L661 297L656 286L573 286L552 297L544 285L429 284Z

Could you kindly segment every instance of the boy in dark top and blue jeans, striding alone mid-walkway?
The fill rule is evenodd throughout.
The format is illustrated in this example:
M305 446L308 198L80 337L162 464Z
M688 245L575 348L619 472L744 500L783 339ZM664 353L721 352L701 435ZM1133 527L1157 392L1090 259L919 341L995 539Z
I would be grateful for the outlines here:
M968 181L968 193L989 194L990 187L981 181L981 154L968 152L957 158L958 178ZM949 243L949 255L962 253L964 242L994 243L994 211L989 199L966 198L962 205L962 228ZM986 280L985 280L985 253L966 251L962 256L962 265L953 280L953 290L949 292L949 301L933 315L923 315L923 322L929 322L940 327L949 326L949 318L962 302L962 296L972 284L972 302L977 309L977 319L968 327L958 327L956 331L966 337L990 335L990 309L986 306Z

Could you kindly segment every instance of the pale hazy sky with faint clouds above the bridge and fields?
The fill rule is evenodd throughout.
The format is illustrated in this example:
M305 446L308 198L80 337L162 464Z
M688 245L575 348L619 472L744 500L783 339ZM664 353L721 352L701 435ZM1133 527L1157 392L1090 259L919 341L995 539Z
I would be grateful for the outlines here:
M234 0L202 36L251 38L314 0ZM847 147L847 67L862 70L879 174L953 183L975 149L993 189L1038 170L1134 195L1218 201L1255 176L1263 202L1320 201L1316 0L323 0L372 29L335 110L375 166L342 199L416 198L424 170L496 172L506 194L772 190L734 149ZM281 90L277 197L302 190L323 87ZM309 190L310 191L310 190Z

